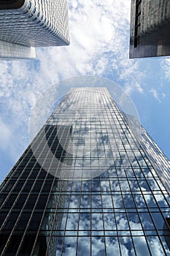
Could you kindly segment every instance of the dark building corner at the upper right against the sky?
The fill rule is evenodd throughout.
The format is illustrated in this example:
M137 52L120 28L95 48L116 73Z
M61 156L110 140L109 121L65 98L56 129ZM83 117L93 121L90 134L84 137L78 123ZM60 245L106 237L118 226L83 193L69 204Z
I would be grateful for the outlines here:
M131 0L131 59L170 55L169 34L169 0Z

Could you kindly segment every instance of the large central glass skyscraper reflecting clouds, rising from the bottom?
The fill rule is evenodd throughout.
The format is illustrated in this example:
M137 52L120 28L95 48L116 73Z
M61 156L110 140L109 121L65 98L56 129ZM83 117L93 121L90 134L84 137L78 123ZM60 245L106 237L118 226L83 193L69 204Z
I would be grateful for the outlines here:
M136 127L70 89L1 184L0 254L169 255L169 160Z

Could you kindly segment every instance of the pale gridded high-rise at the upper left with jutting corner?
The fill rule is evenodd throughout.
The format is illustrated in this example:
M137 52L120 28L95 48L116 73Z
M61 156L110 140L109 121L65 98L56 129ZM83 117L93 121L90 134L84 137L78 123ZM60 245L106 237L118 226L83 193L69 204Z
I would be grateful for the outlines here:
M0 1L0 58L32 59L36 47L69 45L66 0Z

